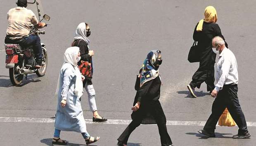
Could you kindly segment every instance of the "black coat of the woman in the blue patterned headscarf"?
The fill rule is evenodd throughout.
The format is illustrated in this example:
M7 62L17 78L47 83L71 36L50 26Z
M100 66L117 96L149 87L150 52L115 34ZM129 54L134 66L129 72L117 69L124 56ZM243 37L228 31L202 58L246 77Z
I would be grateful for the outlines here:
M160 88L161 80L157 76L137 90L133 106L140 101L140 109L132 113L133 120L142 118L142 124L156 124L156 121L166 123L166 117L159 102Z

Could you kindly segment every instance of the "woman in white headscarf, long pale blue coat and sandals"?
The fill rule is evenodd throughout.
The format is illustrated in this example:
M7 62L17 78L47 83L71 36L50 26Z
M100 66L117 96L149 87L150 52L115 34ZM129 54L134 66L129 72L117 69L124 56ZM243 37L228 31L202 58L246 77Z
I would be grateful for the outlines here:
M86 144L92 144L100 139L100 137L90 137L86 130L80 102L83 95L84 76L77 67L80 58L78 47L70 47L64 53L64 64L60 70L56 89L58 104L52 144L67 144L67 141L59 138L61 130L80 132Z

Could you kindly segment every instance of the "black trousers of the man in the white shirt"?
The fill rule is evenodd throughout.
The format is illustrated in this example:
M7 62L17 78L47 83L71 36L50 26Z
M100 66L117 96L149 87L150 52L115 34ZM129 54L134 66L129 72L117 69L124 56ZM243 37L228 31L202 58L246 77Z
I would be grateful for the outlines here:
M237 85L223 86L223 89L218 92L217 97L213 102L211 109L212 113L204 125L204 130L208 132L214 132L218 119L220 118L225 108L228 108L232 118L239 127L238 134L245 134L248 132L244 113L240 107L237 97L237 91Z

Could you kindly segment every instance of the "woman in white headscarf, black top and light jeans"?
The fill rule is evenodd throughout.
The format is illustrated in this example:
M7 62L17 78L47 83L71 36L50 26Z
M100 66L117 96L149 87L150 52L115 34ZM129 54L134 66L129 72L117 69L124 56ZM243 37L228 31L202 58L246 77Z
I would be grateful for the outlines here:
M72 46L78 46L81 52L81 60L88 61L92 65L92 74L93 74L93 64L92 64L92 56L94 55L94 51L89 49L90 40L88 37L90 36L91 31L90 27L87 23L80 23L75 32L74 41ZM78 62L80 65L81 62ZM92 111L93 117L92 122L105 122L107 119L100 116L97 111L96 101L95 101L95 90L92 85L92 79L85 79L83 81L83 85L88 94L88 102L90 106L90 111Z

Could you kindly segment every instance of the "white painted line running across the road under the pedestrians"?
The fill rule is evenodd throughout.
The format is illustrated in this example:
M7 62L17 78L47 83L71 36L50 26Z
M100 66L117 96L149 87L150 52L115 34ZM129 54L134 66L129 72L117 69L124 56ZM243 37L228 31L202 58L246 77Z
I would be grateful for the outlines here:
M25 123L54 123L54 118L21 118L21 117L0 117L0 122L25 122ZM85 119L87 124L110 124L110 125L129 125L131 120L113 120L107 122L95 123L91 119ZM166 125L179 126L204 126L205 121L167 121ZM218 126L218 125L217 125ZM248 127L256 127L256 122L247 122Z

